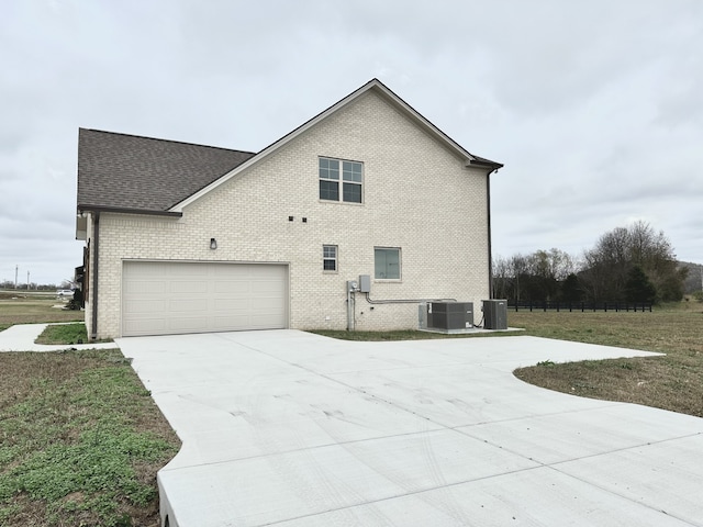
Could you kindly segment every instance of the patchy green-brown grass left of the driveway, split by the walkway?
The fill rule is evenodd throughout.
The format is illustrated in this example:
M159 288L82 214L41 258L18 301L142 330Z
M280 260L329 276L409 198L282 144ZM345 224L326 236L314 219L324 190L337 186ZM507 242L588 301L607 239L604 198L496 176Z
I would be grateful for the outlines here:
M8 302L8 323L57 319L54 300ZM118 349L0 354L1 526L156 527L156 472L179 447Z

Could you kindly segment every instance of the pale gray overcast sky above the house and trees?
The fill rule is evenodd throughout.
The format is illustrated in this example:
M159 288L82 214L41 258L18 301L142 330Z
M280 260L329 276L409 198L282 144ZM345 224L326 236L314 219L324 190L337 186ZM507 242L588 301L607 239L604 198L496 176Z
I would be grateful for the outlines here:
M0 280L59 283L78 127L258 152L373 77L492 177L494 256L703 264L701 0L2 0Z

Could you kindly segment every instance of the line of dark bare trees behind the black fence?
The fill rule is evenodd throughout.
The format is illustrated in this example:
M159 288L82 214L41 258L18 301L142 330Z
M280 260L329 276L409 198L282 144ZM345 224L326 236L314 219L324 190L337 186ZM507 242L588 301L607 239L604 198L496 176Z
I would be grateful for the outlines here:
M684 293L679 266L663 232L646 222L603 234L573 257L560 249L493 260L493 298L512 301L672 302Z

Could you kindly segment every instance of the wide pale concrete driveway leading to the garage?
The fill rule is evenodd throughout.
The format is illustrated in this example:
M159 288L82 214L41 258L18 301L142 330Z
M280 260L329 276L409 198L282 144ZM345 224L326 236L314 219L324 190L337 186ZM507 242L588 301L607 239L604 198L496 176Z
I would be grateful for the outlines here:
M652 354L295 330L118 344L183 441L158 475L170 527L703 526L703 419L511 373Z

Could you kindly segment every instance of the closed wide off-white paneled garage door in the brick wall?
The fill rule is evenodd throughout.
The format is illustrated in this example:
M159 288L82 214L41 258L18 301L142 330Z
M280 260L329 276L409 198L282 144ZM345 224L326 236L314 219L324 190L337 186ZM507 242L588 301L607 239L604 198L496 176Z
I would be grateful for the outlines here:
M122 335L288 326L288 267L125 261Z

